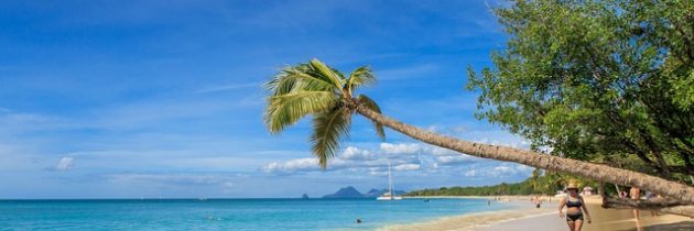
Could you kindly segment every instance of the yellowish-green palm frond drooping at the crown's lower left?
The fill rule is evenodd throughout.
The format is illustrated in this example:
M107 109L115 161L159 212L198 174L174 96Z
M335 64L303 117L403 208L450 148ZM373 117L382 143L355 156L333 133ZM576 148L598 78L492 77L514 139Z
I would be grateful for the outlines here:
M284 128L308 114L328 111L338 99L332 91L296 90L281 96L268 97L264 120L272 133L280 133Z

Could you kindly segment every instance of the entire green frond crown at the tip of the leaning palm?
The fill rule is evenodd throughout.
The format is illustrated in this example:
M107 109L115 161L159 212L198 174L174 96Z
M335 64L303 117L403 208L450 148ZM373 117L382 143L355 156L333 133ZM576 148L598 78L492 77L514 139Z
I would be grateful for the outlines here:
M378 105L366 96L353 98L353 90L376 82L371 70L359 67L349 78L323 63L313 59L305 64L284 67L264 87L267 98L264 122L271 133L282 132L305 117L313 117L311 135L313 154L325 168L339 150L339 142L349 133L351 106L362 105L378 113ZM376 132L386 138L383 127L375 123Z

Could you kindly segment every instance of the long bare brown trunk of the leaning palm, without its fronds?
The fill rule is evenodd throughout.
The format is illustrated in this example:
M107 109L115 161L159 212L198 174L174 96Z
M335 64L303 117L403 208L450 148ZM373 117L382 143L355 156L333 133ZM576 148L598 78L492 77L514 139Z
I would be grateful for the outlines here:
M372 111L361 105L357 106L356 110L359 114L369 118L375 122L435 146L445 147L482 158L514 162L549 170L572 173L596 179L598 182L637 186L642 189L676 199L683 204L694 205L694 188L675 182L631 170L563 158L527 150L462 141L402 123ZM694 211L690 213L694 213Z

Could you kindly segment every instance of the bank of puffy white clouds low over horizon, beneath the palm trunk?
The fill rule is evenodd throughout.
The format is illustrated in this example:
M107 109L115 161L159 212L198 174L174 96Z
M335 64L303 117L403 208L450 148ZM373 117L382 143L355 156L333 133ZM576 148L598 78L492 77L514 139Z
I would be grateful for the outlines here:
M532 168L523 165L478 158L420 143L380 143L378 147L368 150L347 146L329 161L327 169L322 169L318 161L312 157L268 163L260 167L260 170L271 174L305 174L325 170L383 176L388 173L389 163L393 172L464 175L474 178L499 178L509 175L527 175L532 172Z

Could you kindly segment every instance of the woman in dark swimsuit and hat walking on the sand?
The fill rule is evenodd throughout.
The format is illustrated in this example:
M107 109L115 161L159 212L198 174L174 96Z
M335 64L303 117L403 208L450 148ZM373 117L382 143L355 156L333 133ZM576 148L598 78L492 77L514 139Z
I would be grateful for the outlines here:
M564 206L566 206L568 230L581 231L581 228L583 228L583 213L585 212L588 223L590 223L590 215L583 202L583 197L578 196L578 187L575 184L568 184L566 191L566 197L560 201L560 218L564 218Z

